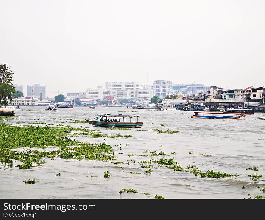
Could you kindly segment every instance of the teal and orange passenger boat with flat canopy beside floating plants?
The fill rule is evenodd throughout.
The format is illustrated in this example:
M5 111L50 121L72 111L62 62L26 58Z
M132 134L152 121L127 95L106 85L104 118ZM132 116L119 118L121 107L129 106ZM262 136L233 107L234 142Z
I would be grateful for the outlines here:
M142 127L143 123L138 122L139 115L111 115L111 114L98 114L95 115L94 120L85 119L89 124L99 127ZM132 119L136 118L136 122ZM127 122L126 122L127 119ZM128 120L129 119L129 120Z

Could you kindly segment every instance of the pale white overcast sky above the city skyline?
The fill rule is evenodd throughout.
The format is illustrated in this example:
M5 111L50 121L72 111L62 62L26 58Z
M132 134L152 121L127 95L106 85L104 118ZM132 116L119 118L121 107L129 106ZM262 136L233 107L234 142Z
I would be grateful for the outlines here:
M0 63L47 96L105 82L265 86L265 1L0 0Z

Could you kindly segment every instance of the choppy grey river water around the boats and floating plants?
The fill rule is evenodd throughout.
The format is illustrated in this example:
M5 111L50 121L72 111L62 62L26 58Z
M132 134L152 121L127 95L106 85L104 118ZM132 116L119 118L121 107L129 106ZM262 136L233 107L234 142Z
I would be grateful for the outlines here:
M89 127L99 129L104 134L131 134L125 138L91 138L83 135L77 140L89 143L106 143L114 149L118 162L45 159L47 163L30 169L0 167L1 198L154 198L162 195L168 198L251 198L263 192L265 187L265 119L264 113L246 115L236 120L210 120L190 118L193 113L186 111L162 111L132 109L126 107L74 107L58 108L56 112L47 112L45 107L21 107L15 110L13 119L4 122L27 125L32 122L70 125L71 127ZM137 114L143 127L137 131L111 130L88 123L74 124L67 119L93 119L97 113ZM51 118L58 119L51 119ZM35 120L34 120L35 119ZM164 124L164 126L161 126ZM32 125L32 124L30 124ZM36 126L42 126L36 124ZM154 134L154 130L172 130L179 133ZM1 144L1 143L0 143ZM114 146L121 145L121 146ZM38 149L40 150L40 149ZM165 152L169 156L145 157L145 150ZM171 154L176 152L176 154ZM189 153L192 152L192 153ZM135 154L134 156L128 156ZM211 154L211 156L202 156ZM196 165L203 172L214 170L227 174L237 173L234 178L201 178L185 171L167 168L154 168L146 174L139 162L150 159L168 159L174 157L179 165L186 168ZM135 160L135 163L133 163ZM151 164L152 165L152 164ZM157 164L155 165L157 167ZM124 167L120 168L120 167ZM259 167L260 171L247 170ZM104 178L109 171L110 178ZM135 173L130 173L135 172ZM55 173L61 173L56 176ZM257 173L263 177L254 182L248 175ZM95 176L95 177L92 177ZM25 179L41 180L36 184L24 184ZM245 186L242 189L242 186ZM258 189L258 186L260 187ZM121 189L133 188L138 193L122 193ZM141 193L150 193L144 195Z

